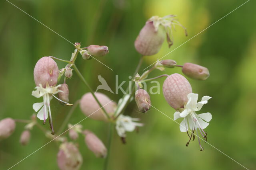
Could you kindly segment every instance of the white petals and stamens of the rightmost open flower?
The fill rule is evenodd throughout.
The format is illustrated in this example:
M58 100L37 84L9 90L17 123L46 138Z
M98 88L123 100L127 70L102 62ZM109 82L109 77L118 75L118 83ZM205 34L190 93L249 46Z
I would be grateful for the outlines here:
M190 93L188 94L188 102L186 105L184 105L184 110L181 113L179 111L176 111L174 113L174 120L181 117L184 118L183 121L180 123L180 131L188 132L188 128L191 129L192 134L191 136L188 135L190 139L192 136L194 138L194 131L196 130L197 132L197 129L203 136L204 140L206 141L207 139L206 138L207 133L204 132L203 129L205 129L209 125L209 122L212 119L212 115L209 112L196 114L196 111L200 111L202 106L206 104L210 98L211 97L209 96L204 96L202 97L201 102L197 102L198 94ZM199 141L199 144L200 144L200 141ZM201 145L200 145L200 148L201 150L203 149Z

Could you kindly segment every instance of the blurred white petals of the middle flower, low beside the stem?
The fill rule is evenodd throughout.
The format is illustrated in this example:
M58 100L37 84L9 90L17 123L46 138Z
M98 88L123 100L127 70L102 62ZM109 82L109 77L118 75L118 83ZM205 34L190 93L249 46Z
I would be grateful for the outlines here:
M134 121L139 121L138 118L132 118L130 116L120 115L116 120L116 131L120 137L126 137L125 132L132 132L136 126L143 126L142 123L137 123Z

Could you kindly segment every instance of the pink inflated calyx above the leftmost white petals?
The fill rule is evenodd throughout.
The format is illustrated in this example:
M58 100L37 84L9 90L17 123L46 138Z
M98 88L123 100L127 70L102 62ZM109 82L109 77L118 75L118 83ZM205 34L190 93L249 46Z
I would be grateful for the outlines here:
M42 87L54 86L57 84L59 71L56 62L50 57L42 57L36 63L34 68L34 80L36 86L42 84Z

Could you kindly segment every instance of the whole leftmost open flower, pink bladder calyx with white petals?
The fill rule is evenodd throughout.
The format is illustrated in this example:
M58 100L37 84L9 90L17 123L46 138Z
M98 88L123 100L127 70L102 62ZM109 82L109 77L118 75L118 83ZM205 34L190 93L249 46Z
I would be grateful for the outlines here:
M54 94L58 92L62 92L58 88L60 85L56 86L58 81L58 66L56 62L50 57L42 57L36 63L34 68L34 80L36 83L36 90L32 92L32 96L36 98L43 97L43 102L34 103L33 109L38 112L37 117L40 120L44 120L44 124L46 123L46 119L50 119L50 127L52 129L52 134L54 134L54 129L52 125L52 114L50 109L50 100L52 100L52 96L58 99ZM67 102L64 102L58 99L60 102L65 103L66 105L72 106Z

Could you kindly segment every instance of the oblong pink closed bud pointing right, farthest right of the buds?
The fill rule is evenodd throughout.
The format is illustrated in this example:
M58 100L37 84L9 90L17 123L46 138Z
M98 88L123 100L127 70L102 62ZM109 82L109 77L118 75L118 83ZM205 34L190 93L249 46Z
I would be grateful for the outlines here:
M182 72L196 80L206 80L210 76L208 68L193 63L185 63Z

